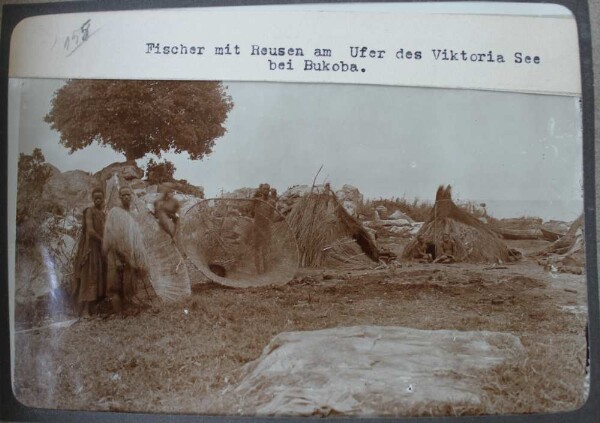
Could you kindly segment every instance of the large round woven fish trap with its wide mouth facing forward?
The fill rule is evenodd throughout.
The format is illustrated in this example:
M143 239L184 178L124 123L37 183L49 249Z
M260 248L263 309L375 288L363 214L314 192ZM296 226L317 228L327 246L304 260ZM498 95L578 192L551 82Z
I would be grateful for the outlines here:
M284 217L259 199L208 199L181 223L187 257L214 282L283 285L298 269L298 246Z

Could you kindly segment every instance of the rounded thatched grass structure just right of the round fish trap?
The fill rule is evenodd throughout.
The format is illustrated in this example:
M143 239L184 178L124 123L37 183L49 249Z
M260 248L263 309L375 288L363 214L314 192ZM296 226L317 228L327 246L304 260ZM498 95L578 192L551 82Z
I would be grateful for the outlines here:
M287 221L298 242L303 267L336 267L379 260L374 239L332 193L300 197Z

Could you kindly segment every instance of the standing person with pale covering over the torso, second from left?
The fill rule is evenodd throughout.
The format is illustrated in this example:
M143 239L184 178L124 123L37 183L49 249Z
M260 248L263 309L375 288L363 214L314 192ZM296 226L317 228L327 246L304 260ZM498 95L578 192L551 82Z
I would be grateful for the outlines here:
M104 228L106 290L115 313L128 306L146 306L145 300L155 296L147 280L149 264L144 238L130 211L133 195L128 187L119 189L121 206L108 212ZM140 289L146 292L138 292Z

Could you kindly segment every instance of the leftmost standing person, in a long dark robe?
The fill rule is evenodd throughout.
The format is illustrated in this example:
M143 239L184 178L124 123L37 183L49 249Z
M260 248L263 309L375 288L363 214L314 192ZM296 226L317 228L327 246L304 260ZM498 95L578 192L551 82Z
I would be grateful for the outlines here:
M79 315L89 317L90 309L106 296L106 263L102 255L104 234L104 193L92 191L93 207L83 211L81 237L73 269L72 294L79 305Z

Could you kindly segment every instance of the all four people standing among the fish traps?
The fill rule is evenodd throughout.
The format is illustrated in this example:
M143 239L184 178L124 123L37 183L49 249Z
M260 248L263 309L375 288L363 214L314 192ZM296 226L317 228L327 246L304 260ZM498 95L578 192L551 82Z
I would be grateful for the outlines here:
M74 260L71 294L81 317L98 312L108 303L113 313L136 311L156 297L149 282L149 260L143 234L132 212L134 192L119 189L120 204L105 212L101 188L92 191L91 207L83 211L83 224ZM251 211L252 247L259 274L269 266L271 223L274 218L277 190L261 184L254 195ZM172 192L154 203L159 227L173 240L179 226L180 204Z

